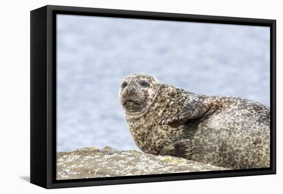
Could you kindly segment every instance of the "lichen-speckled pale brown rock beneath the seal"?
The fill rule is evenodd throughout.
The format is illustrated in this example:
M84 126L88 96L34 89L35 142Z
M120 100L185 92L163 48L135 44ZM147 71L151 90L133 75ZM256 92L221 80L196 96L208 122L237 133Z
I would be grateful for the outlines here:
M154 156L136 150L118 151L109 146L104 149L88 147L57 152L57 180L207 170L227 168L171 156Z

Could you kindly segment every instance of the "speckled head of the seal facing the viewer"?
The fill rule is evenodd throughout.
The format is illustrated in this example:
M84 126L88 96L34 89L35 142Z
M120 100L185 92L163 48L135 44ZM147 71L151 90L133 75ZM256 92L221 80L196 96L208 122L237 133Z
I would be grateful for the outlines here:
M147 73L134 73L122 80L119 97L129 115L140 115L154 102L159 81Z

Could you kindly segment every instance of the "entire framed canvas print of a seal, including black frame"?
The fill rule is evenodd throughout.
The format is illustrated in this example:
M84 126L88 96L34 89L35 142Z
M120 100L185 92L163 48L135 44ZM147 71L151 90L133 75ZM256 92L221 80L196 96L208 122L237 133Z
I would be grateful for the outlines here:
M30 182L276 173L276 21L31 11Z

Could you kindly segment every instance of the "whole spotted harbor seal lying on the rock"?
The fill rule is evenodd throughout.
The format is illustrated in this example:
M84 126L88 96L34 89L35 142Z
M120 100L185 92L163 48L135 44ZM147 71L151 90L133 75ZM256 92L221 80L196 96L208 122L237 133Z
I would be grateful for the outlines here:
M119 98L137 147L232 169L270 167L270 109L192 93L146 73L122 80Z

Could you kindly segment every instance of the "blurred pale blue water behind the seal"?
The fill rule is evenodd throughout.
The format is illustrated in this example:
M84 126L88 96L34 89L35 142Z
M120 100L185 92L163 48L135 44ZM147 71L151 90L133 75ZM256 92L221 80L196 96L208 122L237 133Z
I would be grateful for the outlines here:
M58 151L138 149L118 98L134 72L269 106L269 27L72 15L57 24Z

